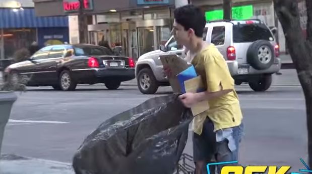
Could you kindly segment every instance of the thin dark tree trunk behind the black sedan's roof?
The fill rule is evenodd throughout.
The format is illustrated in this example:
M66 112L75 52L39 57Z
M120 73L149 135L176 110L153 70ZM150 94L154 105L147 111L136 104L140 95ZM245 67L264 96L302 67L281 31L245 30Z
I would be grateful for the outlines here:
M83 11L83 0L80 0L80 8L78 13L78 29L79 29L79 43L88 43L88 20Z

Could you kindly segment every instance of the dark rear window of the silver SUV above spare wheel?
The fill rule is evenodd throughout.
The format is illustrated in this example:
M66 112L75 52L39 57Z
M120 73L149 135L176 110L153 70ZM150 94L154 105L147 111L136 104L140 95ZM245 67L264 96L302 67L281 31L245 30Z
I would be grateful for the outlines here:
M233 25L233 42L255 42L257 40L273 41L270 30L264 24Z

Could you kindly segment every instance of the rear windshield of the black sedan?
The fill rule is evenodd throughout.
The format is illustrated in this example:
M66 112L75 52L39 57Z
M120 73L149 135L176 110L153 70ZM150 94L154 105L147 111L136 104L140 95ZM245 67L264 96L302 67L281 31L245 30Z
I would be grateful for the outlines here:
M113 55L110 50L100 46L76 46L74 50L76 56Z

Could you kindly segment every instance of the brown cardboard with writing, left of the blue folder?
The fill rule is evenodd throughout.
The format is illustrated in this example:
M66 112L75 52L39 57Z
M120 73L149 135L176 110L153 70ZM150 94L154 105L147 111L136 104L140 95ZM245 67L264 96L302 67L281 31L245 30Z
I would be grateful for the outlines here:
M159 56L162 65L170 67L172 75L168 78L171 88L174 93L181 93L181 87L178 79L176 78L177 74L189 68L190 65L182 58L178 57L175 54Z

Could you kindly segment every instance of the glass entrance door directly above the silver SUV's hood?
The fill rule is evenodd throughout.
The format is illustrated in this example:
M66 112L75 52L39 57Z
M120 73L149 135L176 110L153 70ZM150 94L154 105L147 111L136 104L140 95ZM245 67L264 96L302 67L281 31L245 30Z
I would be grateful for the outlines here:
M138 46L139 56L144 53L154 51L154 28L153 27L140 27L138 31Z

